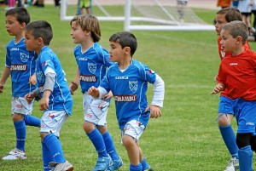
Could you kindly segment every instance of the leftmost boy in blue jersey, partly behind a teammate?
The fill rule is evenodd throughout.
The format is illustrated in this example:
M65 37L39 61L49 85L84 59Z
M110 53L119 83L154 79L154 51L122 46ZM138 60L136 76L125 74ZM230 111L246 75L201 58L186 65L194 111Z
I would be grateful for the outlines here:
M30 22L30 15L24 8L9 9L5 14L6 30L14 36L7 45L7 54L3 76L0 79L0 94L9 75L12 82L12 117L16 132L16 147L3 160L26 159L26 125L40 127L40 119L32 117L32 103L28 104L24 95L32 92L36 86L36 54L26 50L24 29Z

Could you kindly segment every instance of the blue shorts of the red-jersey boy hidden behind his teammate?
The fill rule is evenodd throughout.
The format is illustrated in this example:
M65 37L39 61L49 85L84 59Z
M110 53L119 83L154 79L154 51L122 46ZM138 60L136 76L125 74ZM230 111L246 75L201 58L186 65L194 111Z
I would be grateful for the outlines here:
M234 100L230 100L225 96L219 97L218 113L233 114L234 115Z

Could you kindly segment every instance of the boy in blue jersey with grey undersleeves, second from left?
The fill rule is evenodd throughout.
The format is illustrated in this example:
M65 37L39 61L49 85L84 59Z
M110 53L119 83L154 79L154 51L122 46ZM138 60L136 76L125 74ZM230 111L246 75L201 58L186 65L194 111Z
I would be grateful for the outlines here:
M61 62L49 48L53 37L51 26L44 20L33 21L26 26L25 37L26 49L38 54L38 88L25 98L28 102L40 99L39 107L44 111L40 129L44 171L72 171L73 165L64 157L59 136L61 126L72 115L73 99Z

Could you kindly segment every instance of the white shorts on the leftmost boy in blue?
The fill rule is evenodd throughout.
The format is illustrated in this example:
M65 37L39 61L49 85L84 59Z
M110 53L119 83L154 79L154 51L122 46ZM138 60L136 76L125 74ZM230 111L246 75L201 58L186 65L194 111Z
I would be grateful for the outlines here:
M23 97L12 98L12 114L19 113L23 115L31 115L34 100L29 104Z

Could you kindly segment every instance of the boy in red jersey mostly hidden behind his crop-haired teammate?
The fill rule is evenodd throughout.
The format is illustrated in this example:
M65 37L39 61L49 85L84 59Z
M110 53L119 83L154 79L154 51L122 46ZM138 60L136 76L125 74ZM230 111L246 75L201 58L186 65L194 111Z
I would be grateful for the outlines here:
M220 9L216 13L215 28L218 35L218 54L220 60L223 60L225 56L229 55L230 52L224 52L221 48L221 37L219 37L219 33L222 29L222 26L229 23L233 20L241 20L241 13L238 9L234 8L225 8ZM250 49L248 43L245 44L246 49ZM218 77L215 77L215 81L217 82ZM218 128L220 134L223 137L224 143L230 151L230 162L228 166L224 169L224 171L235 171L238 166L238 148L236 145L236 136L231 127L231 121L234 116L233 108L232 108L232 100L227 95L227 91L224 90L220 94L220 100L218 105Z

